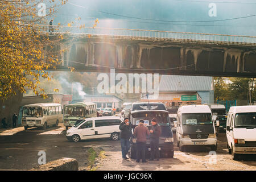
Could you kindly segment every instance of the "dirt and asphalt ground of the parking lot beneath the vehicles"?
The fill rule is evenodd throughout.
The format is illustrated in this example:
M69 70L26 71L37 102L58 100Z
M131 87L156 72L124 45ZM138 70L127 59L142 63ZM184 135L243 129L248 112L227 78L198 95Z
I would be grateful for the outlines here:
M1 131L0 131L1 132ZM174 135L175 136L175 135ZM49 127L46 131L23 127L0 133L0 170L27 170L38 166L38 152L46 152L46 162L60 158L75 158L80 170L88 170L89 149L105 155L96 159L93 169L106 171L143 170L255 170L255 155L246 155L234 161L226 148L225 133L218 135L216 155L209 155L209 148L190 148L179 151L175 143L174 158L161 158L159 161L136 163L134 159L123 160L120 141L109 138L68 142L63 123Z

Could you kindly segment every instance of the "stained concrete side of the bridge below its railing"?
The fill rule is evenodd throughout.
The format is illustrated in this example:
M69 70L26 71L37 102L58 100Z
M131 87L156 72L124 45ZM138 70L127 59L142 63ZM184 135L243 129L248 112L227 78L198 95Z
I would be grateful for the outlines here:
M109 36L75 39L61 44L68 51L62 65L81 72L159 73L226 77L256 76L256 47L216 43L147 41Z

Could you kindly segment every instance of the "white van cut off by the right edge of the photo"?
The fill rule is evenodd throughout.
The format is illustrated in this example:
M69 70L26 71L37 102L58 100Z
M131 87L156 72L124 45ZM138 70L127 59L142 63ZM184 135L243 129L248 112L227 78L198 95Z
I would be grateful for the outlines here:
M256 106L233 106L226 122L229 154L256 154Z

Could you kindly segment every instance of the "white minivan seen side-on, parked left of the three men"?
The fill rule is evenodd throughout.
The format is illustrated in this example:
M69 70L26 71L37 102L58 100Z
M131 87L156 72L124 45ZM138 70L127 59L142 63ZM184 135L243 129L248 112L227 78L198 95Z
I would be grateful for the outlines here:
M73 142L84 139L109 138L119 139L119 125L122 122L120 117L95 117L87 118L79 123L75 123L71 129L67 130L66 137Z

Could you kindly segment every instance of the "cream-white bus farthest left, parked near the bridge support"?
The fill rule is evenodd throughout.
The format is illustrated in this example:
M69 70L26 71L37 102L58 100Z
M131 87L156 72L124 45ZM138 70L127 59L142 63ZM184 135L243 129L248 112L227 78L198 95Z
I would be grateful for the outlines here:
M39 103L24 105L22 110L22 126L28 127L58 126L63 121L63 110L61 104Z

